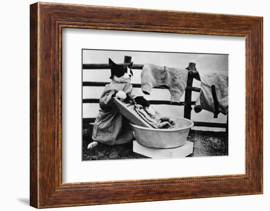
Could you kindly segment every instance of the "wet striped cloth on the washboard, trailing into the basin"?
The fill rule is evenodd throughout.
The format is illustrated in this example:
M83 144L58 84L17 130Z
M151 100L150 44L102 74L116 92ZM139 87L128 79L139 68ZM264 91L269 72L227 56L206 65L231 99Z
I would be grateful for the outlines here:
M154 108L153 108L154 109ZM154 128L169 128L174 125L174 121L169 117L163 117L158 111L154 115L150 115L147 109L139 104L135 104L136 113Z

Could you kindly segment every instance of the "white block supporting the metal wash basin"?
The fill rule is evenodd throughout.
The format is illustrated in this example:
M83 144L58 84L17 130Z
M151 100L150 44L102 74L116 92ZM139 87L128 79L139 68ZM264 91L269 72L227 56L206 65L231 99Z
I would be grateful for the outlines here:
M133 141L133 151L149 158L183 158L193 152L193 142L187 141L183 146L171 149L156 149L143 146Z

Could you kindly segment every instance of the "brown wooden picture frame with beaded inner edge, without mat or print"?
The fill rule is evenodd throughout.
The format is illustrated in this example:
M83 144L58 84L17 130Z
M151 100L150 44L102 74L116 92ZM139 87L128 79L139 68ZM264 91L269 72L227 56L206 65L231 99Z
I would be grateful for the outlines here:
M64 27L245 37L245 174L62 183L61 31ZM31 4L30 205L51 208L262 194L262 50L262 17Z

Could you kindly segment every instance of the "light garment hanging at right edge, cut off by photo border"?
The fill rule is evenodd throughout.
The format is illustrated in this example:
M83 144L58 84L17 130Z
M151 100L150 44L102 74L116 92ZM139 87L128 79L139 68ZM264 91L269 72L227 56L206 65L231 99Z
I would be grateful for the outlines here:
M215 112L215 104L212 94L212 85L216 88L216 98L221 113L228 113L228 72L203 71L199 72L201 78L201 92L194 106L196 113L201 109Z

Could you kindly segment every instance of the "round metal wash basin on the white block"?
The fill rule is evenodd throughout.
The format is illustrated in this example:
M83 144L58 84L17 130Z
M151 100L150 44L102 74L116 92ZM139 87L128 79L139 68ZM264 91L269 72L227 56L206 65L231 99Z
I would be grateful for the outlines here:
M193 121L187 118L170 117L175 123L184 125L181 128L175 129L155 129L137 126L131 124L134 128L134 134L137 142L141 145L151 148L175 148L186 143L189 129L194 125Z

